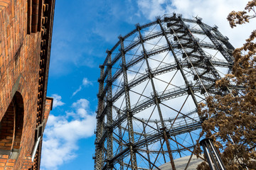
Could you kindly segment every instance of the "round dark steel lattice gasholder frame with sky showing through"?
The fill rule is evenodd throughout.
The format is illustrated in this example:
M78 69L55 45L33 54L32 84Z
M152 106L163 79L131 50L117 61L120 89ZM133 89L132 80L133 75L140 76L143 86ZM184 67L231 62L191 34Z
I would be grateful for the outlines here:
M198 103L238 89L215 88L233 50L217 26L176 13L120 35L100 65L95 169L175 169L197 144Z

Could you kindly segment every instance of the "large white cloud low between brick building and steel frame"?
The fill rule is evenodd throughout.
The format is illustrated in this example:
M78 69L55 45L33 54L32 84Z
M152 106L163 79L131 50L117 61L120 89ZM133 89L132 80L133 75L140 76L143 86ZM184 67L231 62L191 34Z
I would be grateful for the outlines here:
M74 111L65 115L49 115L43 138L43 169L58 169L64 162L74 159L78 140L93 135L96 118L88 111L89 101L81 98L72 108Z

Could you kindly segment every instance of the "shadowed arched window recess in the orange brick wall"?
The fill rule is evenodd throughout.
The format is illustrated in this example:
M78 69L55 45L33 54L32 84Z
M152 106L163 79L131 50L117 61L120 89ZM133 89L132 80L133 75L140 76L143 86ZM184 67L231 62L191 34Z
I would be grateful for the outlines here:
M23 98L17 91L0 122L0 154L15 158L21 144L23 130Z

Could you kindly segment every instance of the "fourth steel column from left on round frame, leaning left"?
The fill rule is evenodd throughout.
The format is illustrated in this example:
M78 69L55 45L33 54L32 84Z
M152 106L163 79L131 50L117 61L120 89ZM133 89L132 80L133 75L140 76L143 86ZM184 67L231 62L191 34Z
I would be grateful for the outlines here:
M146 49L144 47L144 40L142 38L142 33L140 32L140 27L137 26L137 30L139 32L139 38L140 38L140 42L142 44L142 49L143 49L143 55L144 55L144 59L146 61L146 67L148 69L148 72L149 72L149 79L151 81L151 86L152 86L152 89L153 89L153 93L154 93L154 100L155 100L155 103L156 103L156 107L157 107L157 111L159 112L159 118L161 120L161 130L163 130L163 135L164 135L164 140L166 142L166 147L168 149L168 153L169 153L169 157L170 157L170 161L171 161L171 167L173 170L175 170L175 164L174 164L174 158L171 154L171 147L170 147L170 143L169 143L169 140L168 140L168 137L166 135L166 127L164 125L164 119L163 119L163 115L161 113L161 108L160 108L160 105L159 105L159 97L157 96L156 94L156 88L154 86L154 81L153 81L153 77L154 75L151 73L151 69L150 69L150 66L149 66L149 60L148 60L148 55L146 55Z

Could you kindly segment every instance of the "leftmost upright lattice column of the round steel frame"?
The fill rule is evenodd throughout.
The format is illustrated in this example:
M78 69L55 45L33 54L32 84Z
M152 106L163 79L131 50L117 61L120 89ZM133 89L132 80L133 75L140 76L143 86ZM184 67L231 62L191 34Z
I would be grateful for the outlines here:
M99 94L98 94L98 106L97 106L97 115L100 115L103 111L103 96L102 92L104 90L104 66L100 65L100 79L98 79L99 82ZM96 132L96 141L99 142L100 138L102 137L102 119L97 119L97 132ZM102 169L102 146L97 145L95 149L95 170Z

